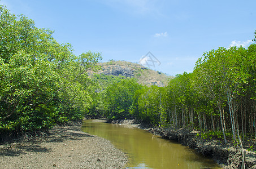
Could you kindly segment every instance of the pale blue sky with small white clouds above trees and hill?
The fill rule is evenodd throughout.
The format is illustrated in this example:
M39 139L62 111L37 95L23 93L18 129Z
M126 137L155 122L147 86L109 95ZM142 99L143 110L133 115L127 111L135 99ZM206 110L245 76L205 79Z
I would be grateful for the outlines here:
M247 47L256 30L255 0L1 0L38 28L54 30L74 53L93 51L102 61L139 63L148 52L169 75L193 72L203 52ZM153 60L154 60L153 58Z

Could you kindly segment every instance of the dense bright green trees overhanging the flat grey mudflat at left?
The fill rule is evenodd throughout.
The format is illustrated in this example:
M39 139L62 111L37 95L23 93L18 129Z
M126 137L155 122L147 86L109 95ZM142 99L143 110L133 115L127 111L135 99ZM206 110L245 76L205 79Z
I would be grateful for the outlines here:
M0 14L0 135L83 118L93 91L86 72L99 68L100 54L77 57L24 15L3 6Z

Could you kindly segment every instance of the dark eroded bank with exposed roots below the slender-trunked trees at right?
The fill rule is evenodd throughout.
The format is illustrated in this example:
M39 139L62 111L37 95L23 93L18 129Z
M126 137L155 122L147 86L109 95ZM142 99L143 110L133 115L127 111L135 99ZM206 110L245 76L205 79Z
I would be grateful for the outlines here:
M103 121L104 122L104 121ZM106 120L105 120L106 122ZM150 127L147 124L136 123L134 120L109 121L114 124L122 124L131 127L138 127L146 131L150 131L154 135L159 135L164 139L177 141L180 144L186 145L196 152L203 154L205 157L214 159L222 168L241 168L242 155L236 153L236 149L230 145L224 145L218 139L202 139L198 136L198 131L189 131L180 128L159 128ZM245 150L245 161L247 168L256 168L256 153Z

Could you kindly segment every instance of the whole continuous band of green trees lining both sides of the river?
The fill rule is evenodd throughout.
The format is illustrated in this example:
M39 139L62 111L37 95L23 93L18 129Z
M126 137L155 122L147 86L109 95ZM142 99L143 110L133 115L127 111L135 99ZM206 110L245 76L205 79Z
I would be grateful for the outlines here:
M51 30L3 6L0 26L0 135L47 130L90 115L213 131L224 143L241 145L241 139L256 136L255 43L205 52L192 73L177 74L165 87L148 87L134 78L89 78L101 54L75 56Z

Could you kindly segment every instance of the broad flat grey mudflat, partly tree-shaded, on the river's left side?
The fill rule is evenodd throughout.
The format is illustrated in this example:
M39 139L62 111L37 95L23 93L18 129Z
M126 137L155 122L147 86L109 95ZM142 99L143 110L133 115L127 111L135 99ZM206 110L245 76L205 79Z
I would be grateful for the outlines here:
M0 161L0 168L124 168L128 157L81 126L68 126L37 140L0 145Z

